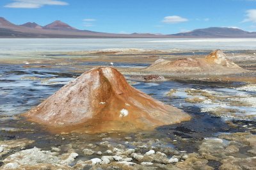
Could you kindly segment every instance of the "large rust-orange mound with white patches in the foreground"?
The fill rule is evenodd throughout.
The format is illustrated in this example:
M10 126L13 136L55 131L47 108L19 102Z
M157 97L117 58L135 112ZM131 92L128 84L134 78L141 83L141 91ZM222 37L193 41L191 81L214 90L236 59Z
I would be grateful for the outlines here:
M112 67L83 73L24 115L61 131L77 127L86 132L152 130L191 118L133 88Z

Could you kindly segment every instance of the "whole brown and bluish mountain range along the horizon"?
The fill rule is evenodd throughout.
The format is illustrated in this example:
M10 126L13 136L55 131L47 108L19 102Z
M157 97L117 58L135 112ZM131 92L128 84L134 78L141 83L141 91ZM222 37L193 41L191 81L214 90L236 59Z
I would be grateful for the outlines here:
M16 25L0 17L0 38L256 38L256 32L230 27L208 27L172 35L115 34L76 29L61 20L46 26L35 22Z

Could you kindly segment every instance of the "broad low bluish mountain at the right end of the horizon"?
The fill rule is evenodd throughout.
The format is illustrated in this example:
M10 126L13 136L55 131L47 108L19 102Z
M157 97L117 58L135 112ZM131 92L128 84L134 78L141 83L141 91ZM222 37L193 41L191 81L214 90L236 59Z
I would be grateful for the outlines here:
M195 29L187 33L173 34L172 36L200 38L252 38L256 37L256 33L232 27L208 27L204 29Z

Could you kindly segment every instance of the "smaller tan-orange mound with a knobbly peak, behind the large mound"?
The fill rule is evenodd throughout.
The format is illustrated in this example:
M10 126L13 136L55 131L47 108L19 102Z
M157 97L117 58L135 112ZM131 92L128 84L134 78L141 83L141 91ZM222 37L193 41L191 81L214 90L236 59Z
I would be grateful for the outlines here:
M237 73L245 70L227 59L227 56L221 50L214 50L205 58L186 58L175 61L165 59L157 59L155 63L148 66L147 72L189 72L189 73L207 73L207 74L223 74Z

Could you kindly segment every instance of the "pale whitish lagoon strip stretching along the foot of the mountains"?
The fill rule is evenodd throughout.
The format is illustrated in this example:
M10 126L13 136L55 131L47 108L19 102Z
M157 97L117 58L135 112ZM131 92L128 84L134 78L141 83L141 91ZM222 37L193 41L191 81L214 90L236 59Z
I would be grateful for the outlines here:
M0 39L0 53L77 51L113 48L161 50L256 50L256 38L152 39L152 38L13 38Z

